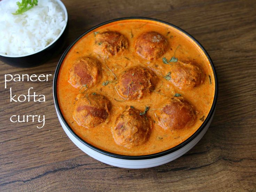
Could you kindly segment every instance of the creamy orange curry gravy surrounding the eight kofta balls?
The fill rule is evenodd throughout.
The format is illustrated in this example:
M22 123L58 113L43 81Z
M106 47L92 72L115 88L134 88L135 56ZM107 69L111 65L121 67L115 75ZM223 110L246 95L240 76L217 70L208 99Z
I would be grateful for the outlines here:
M114 75L110 73L98 54L94 53L93 44L95 42L94 32L104 32L107 30L118 31L125 35L129 41L129 48L121 54L109 57L106 60L107 66L118 77L126 69L133 66L148 67L153 70L158 78L156 85L157 91L166 96L173 97L176 93L181 94L187 101L189 101L196 111L196 122L192 127L179 129L177 131L164 130L156 123L153 123L152 131L148 141L142 145L134 146L130 149L117 145L114 141L111 126L114 126L114 121L129 106L134 106L140 111L145 110L145 106L150 109L158 109L163 105L164 95L151 92L140 101L116 101L123 100L118 96L115 90L115 83L108 83L103 86L102 83L106 80L114 81ZM143 32L156 31L168 40L169 49L160 58L147 61L141 58L134 50L134 42L136 38ZM177 48L178 47L178 48ZM177 49L177 50L176 50ZM162 58L165 57L169 61L174 56L179 61L192 60L201 67L205 73L205 79L202 85L193 88L192 90L180 90L175 87L170 81L166 80L164 76L170 71L170 65L164 64ZM112 103L112 108L108 119L96 127L86 129L79 126L73 119L72 114L74 110L74 98L79 94L79 88L76 89L68 82L69 69L72 64L79 58L91 56L97 58L102 64L102 78L99 79L97 85L88 88L90 93L97 93L106 96ZM210 77L210 78L209 78ZM211 81L210 81L211 79ZM69 126L80 136L84 141L108 152L122 154L122 155L147 155L161 151L168 150L190 137L202 124L202 117L207 117L212 102L214 99L215 80L210 62L205 56L203 50L187 35L169 25L143 19L130 19L112 22L98 27L94 31L87 33L81 38L69 51L65 57L57 79L57 98L60 105L61 112L68 122ZM155 111L148 111L147 115L154 119ZM200 120L201 119L201 120ZM205 118L204 118L205 119Z

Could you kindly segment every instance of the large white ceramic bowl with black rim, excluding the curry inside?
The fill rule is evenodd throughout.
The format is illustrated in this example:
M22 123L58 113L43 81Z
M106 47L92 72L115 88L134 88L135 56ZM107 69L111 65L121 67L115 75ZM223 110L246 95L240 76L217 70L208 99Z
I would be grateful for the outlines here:
M155 154L150 154L150 155L140 155L140 156L127 156L127 155L118 155L118 154L114 154L114 153L110 153L107 151L103 151L87 142L85 142L82 138L80 138L68 125L67 121L64 119L63 114L61 113L60 110L60 106L58 103L58 99L57 99L57 76L59 74L59 70L60 70L60 66L65 58L65 56L67 55L68 51L72 48L72 46L80 39L82 38L85 34L87 34L88 32L94 30L95 28L105 25L107 23L111 23L111 22L115 22L115 21L119 21L119 20L124 20L124 19L146 19L146 20L153 20L153 21L158 21L158 22L162 22L165 24L168 24L170 26L175 27L176 29L180 30L181 32L185 33L185 35L187 35L189 38L191 38L195 43L197 43L197 45L199 45L201 47L201 49L204 51L205 55L208 57L212 70L214 72L214 77L215 77L215 95L214 95L214 101L213 104L211 106L211 110L208 114L208 116L205 118L203 124L199 127L199 129L197 129L197 131L188 139L186 139L186 141L180 143L179 145L160 152L160 153L155 153ZM61 126L63 127L65 133L68 135L68 137L71 139L71 141L73 143L75 143L75 145L81 149L82 151L84 151L86 154L90 155L91 157L93 157L94 159L97 159L101 162L107 163L109 165L113 165L116 167L123 167L123 168L133 168L133 169L137 169L137 168L148 168L148 167L155 167L155 166L159 166L159 165L163 165L164 163L168 163L174 159L177 159L178 157L180 157L181 155L185 154L187 151L189 151L193 146L195 146L195 144L197 142L200 141L200 139L203 137L203 135L206 133L207 129L210 126L210 123L212 121L212 118L214 116L214 112L215 112L215 108L216 108L216 103L217 103L217 95L218 95L218 82L217 82L217 75L216 75L216 71L214 68L214 65L211 61L210 56L207 54L207 52L205 51L205 49L200 45L200 43L198 41L196 41L191 35L189 35L188 33L186 33L185 31L183 31L182 29L180 29L179 27L172 25L170 23L166 23L157 19L152 19L152 18L144 18L144 17L127 17L127 18L119 18L119 19L114 19L105 23L102 23L100 25L97 25L95 27L93 27L92 29L86 31L84 34L82 34L79 38L77 38L68 48L67 50L65 50L64 54L62 55L56 71L55 71L55 75L54 75L54 82L53 82L53 96L54 96L54 103L55 103L55 109L57 112L57 116L59 118L59 121L61 123Z

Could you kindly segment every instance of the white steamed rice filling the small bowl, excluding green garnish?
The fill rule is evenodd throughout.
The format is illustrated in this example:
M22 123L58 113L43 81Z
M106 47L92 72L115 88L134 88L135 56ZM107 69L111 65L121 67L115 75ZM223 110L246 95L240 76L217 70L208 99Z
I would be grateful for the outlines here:
M0 1L0 54L32 54L49 45L66 24L64 11L52 0L38 0L38 6L13 15L21 0Z

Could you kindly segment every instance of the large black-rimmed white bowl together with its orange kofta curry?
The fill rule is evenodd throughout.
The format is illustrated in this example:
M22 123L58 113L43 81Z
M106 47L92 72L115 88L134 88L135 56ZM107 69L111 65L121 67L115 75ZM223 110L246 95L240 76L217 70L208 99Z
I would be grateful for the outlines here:
M200 43L175 25L142 17L83 33L62 55L53 85L71 141L124 168L162 165L190 150L210 125L217 93Z

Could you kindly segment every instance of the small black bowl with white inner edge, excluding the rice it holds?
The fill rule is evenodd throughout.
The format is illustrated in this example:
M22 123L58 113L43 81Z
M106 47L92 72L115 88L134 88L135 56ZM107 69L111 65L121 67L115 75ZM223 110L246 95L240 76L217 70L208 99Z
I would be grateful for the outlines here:
M67 22L67 24L63 27L59 36L53 42L51 42L48 46L32 54L26 54L26 55L20 55L20 56L0 54L0 60L2 62L15 67L23 67L23 68L34 67L42 63L45 63L47 60L51 58L51 56L54 53L56 53L58 50L61 50L62 46L64 45L64 40L68 32L68 13L64 4L60 0L56 0L56 1L64 10L65 21Z

